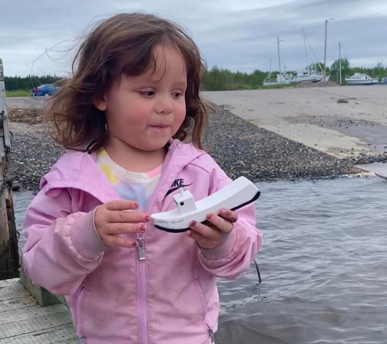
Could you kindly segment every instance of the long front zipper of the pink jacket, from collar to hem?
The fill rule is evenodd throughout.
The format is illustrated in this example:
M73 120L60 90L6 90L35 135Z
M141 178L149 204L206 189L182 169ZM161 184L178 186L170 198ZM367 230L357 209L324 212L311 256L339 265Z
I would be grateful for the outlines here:
M148 204L146 205L145 212L149 212L150 206L152 204L153 198L157 192L157 189L160 187L162 180L167 174L168 169L170 168L173 157L176 153L178 147L174 147L171 157L168 161L167 166L165 167L163 174L160 177L159 182L157 183L155 189L153 190L152 195L148 200ZM136 235L137 241L137 252L138 252L138 269L137 269L137 281L138 281L138 313L139 313L139 344L148 344L148 317L147 317L147 304L146 304L146 253L145 253L145 238L143 234Z

